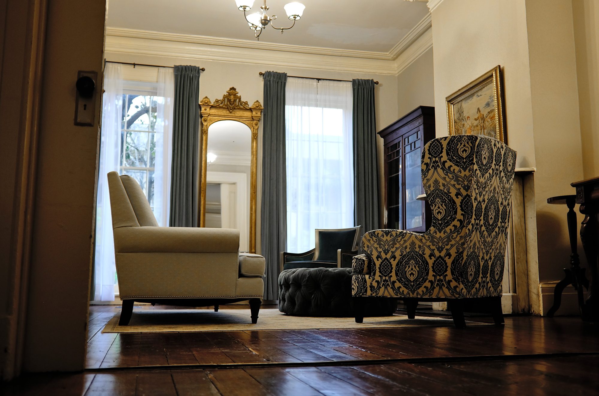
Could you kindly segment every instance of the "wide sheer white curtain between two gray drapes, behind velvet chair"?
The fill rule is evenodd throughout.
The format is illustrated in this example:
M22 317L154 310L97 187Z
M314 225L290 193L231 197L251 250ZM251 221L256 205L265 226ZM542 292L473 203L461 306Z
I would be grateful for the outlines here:
M289 77L285 104L287 248L304 252L353 227L352 83Z

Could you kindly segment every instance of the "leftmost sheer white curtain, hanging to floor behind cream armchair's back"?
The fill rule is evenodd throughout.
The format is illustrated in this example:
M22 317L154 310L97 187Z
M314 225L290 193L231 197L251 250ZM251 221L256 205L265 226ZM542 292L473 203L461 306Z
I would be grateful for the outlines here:
M110 196L106 175L119 171L121 121L123 118L122 66L107 63L104 68L104 98L102 99L102 132L96 202L96 246L94 261L94 301L114 301L116 267L114 240L110 216Z

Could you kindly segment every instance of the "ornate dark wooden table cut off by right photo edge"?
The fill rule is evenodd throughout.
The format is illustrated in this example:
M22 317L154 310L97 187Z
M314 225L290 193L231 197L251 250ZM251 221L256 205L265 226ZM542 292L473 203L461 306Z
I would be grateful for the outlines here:
M580 226L580 240L585 249L591 279L589 293L582 306L584 321L599 321L599 177L573 182L576 188L576 203L585 215Z

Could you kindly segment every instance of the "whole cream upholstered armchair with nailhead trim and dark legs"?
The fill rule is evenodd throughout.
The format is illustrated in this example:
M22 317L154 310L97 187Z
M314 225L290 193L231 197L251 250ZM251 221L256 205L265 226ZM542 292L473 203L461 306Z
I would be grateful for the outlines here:
M131 176L108 173L114 256L123 309L134 301L181 306L250 301L252 323L264 294L265 261L239 253L239 231L159 227L146 196Z

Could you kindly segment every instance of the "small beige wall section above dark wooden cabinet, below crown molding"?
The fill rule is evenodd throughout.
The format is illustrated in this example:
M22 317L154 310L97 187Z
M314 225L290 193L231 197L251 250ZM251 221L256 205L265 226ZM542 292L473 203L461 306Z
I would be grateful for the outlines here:
M397 76L397 118L418 106L435 105L432 48Z

